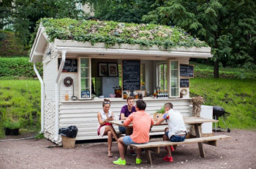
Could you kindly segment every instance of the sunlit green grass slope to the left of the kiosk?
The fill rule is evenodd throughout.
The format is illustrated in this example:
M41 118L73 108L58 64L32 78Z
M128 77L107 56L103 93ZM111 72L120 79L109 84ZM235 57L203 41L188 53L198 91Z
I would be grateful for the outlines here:
M21 127L40 127L40 83L38 80L0 80L0 137L3 123L11 118Z

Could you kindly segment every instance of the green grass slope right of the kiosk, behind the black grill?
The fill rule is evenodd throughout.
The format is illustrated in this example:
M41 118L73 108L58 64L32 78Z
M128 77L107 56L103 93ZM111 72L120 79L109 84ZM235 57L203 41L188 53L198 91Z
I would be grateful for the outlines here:
M230 113L231 128L256 128L256 80L190 79L190 97L205 98L205 105L222 106ZM225 127L220 120L219 125Z

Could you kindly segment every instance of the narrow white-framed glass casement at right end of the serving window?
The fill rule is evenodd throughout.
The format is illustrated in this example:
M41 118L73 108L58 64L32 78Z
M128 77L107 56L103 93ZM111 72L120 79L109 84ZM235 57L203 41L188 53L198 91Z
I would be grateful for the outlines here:
M179 97L179 62L178 60L168 60L168 91L169 98Z

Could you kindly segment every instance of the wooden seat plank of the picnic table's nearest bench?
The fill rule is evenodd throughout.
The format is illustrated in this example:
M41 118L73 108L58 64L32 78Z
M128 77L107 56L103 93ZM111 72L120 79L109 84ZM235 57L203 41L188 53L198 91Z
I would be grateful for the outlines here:
M205 137L205 138L189 138L185 139L182 142L170 142L170 141L155 141L155 142L148 142L147 144L131 144L130 146L136 147L138 149L143 148L149 148L149 147L156 147L156 146L174 146L178 144L193 144L198 142L204 142L204 141L217 141L217 140L223 140L226 138L230 138L229 135L214 135L211 137Z

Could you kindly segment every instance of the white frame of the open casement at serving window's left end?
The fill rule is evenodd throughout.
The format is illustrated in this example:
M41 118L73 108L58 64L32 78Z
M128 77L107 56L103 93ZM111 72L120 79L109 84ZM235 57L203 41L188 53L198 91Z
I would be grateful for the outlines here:
M90 91L90 97L89 98L81 98L81 59L89 59L89 67L86 67L86 69L89 69L89 77L86 77L86 79L89 79L89 87L86 87ZM78 57L78 99L79 100L89 100L91 99L91 58L88 57Z

